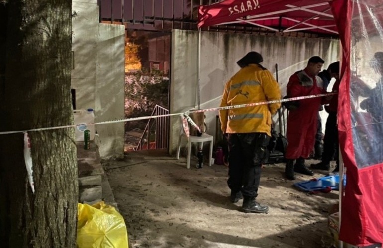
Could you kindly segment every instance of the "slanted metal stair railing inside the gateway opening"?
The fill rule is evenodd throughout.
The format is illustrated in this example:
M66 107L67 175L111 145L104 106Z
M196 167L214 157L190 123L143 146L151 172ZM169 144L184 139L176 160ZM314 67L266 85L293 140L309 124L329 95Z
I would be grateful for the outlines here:
M156 105L151 116L166 115L169 110ZM137 144L136 151L166 149L169 145L169 117L150 118Z

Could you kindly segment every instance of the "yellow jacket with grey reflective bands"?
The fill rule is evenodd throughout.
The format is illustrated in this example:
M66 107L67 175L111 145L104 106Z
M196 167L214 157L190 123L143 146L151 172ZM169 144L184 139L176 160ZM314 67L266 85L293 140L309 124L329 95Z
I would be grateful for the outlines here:
M239 70L225 85L221 107L280 100L281 91L270 71L257 64ZM220 110L223 133L262 132L270 136L272 115L281 103Z

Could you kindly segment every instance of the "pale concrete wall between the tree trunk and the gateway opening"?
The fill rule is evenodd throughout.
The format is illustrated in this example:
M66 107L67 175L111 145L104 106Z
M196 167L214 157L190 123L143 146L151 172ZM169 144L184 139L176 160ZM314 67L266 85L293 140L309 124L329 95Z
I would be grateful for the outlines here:
M97 0L73 0L72 88L77 109L93 108L95 121L124 118L124 41L122 25L99 23ZM95 126L101 157L122 157L124 124Z

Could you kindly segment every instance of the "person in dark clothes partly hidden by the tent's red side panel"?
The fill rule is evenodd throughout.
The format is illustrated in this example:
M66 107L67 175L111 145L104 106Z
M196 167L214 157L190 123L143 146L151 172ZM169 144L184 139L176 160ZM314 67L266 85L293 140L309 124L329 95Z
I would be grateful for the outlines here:
M321 72L322 73L322 72ZM320 74L320 73L319 73ZM322 74L323 78L327 82L331 81L331 78L335 78L334 86L332 87L333 92L339 91L339 61L330 64L325 73ZM328 112L326 121L326 130L324 133L323 153L322 161L317 164L311 164L312 169L319 170L330 170L330 161L336 156L336 164L334 172L339 171L339 143L338 143L338 124L337 124L337 112L338 112L338 96L335 95L331 100L330 104L325 107Z

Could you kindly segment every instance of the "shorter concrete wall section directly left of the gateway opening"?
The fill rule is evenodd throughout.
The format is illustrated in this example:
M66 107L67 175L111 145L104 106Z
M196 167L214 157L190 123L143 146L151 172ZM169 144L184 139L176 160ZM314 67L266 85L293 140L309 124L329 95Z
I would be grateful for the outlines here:
M124 27L99 24L97 44L96 121L124 118ZM100 135L100 155L104 158L122 157L124 123L96 126Z

